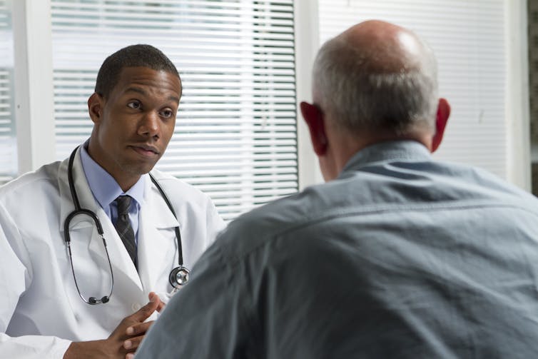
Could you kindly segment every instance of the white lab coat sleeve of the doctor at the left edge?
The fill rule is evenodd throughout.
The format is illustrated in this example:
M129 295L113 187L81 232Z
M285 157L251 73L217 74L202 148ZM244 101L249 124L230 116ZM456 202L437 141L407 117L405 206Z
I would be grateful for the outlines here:
M19 298L31 281L31 264L21 234L0 206L0 359L61 359L70 340L45 335L11 337L6 331Z

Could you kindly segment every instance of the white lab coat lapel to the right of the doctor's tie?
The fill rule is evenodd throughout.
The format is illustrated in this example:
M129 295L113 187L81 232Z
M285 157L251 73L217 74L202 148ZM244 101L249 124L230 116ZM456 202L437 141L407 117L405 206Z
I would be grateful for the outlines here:
M156 283L168 282L168 273L178 263L174 231L178 221L149 176L144 193L138 217L138 272L143 287L155 290Z

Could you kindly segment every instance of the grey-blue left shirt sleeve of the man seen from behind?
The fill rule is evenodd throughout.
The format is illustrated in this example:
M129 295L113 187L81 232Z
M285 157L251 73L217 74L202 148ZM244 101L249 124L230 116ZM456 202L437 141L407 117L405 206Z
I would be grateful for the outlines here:
M217 241L151 327L136 359L239 358L245 330L238 277Z

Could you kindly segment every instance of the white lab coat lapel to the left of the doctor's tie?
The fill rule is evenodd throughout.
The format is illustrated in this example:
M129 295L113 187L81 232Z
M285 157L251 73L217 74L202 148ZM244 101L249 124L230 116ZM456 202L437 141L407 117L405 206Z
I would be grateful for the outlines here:
M114 278L117 280L128 280L136 285L140 290L142 290L142 283L136 272L136 268L129 257L125 246L121 242L121 239L116 232L112 222L106 216L103 208L99 206L91 189L88 186L88 181L86 181L86 176L84 176L81 159L78 149L73 161L73 181L75 183L76 193L78 195L78 201L81 204L81 208L88 209L96 213L97 217L101 221L101 226L103 227L103 236L106 240L106 245L108 248L108 256L110 256L110 261L112 263L112 270ZM59 171L59 178L61 181L60 193L61 193L61 221L60 228L61 231L64 231L64 221L65 218L74 210L73 199L71 196L71 191L69 190L68 180L67 180L67 161L62 163L62 166ZM108 258L106 256L106 251L103 246L103 240L101 236L98 235L96 226L93 225L93 221L88 216L76 216L71 221L71 242L78 241L77 243L86 243L88 238L90 242L88 244L88 250L93 258L98 261L96 265L108 267ZM90 228L92 228L90 230ZM91 233L91 234L90 234ZM91 236L91 237L90 237Z

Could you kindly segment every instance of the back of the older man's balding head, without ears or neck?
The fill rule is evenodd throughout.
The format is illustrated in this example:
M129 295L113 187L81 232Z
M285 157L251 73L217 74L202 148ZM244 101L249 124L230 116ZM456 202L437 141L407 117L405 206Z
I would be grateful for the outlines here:
M412 31L365 21L325 43L314 64L314 101L354 133L432 133L437 106L432 51Z

